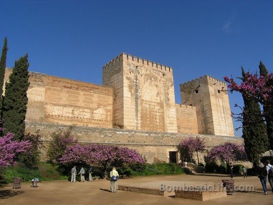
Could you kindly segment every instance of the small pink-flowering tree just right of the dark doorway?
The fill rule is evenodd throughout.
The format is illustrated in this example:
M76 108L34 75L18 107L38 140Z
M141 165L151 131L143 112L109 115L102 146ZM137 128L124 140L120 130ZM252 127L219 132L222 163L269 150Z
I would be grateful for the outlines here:
M185 159L194 161L193 160L193 153L196 152L197 154L197 160L199 165L199 157L198 152L205 151L205 140L201 139L200 137L189 137L188 139L185 139L180 142L178 145L178 150L181 155L181 159L185 161Z

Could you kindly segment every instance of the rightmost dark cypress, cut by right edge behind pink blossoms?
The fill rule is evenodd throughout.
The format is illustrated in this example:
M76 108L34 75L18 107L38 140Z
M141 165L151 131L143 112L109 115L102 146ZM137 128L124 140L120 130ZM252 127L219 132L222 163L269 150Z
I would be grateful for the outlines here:
M268 79L268 71L261 61L259 63L259 72L260 76L263 76L265 79ZM271 86L273 87L272 82L268 81L268 84L271 84L266 85L268 88ZM273 150L273 105L265 101L263 104L263 112L266 122L266 133L268 136L268 142L270 145L270 149Z

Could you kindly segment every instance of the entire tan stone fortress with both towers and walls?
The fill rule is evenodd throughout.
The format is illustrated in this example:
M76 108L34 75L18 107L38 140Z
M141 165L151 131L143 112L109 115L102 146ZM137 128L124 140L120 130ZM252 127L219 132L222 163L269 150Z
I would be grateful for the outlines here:
M181 84L180 105L169 66L122 53L102 70L103 85L29 72L26 132L39 129L50 143L52 132L76 125L80 143L127 146L149 163L179 162L176 146L189 136L204 137L208 147L242 143L232 137L224 82L204 76Z

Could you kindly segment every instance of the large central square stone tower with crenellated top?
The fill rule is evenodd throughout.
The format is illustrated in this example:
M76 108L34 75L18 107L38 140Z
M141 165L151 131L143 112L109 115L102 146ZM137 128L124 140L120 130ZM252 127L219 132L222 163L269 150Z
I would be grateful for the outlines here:
M122 53L103 67L113 87L113 127L177 132L172 68Z

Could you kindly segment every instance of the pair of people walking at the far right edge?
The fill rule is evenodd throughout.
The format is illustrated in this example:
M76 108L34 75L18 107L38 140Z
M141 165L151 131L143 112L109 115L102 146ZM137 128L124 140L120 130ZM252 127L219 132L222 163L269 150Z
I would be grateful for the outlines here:
M269 160L265 161L265 165L260 162L258 165L258 177L260 179L264 194L267 195L267 188L266 188L266 179L268 178L268 182L270 187L272 188L273 193L273 165L270 164Z

